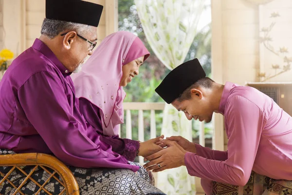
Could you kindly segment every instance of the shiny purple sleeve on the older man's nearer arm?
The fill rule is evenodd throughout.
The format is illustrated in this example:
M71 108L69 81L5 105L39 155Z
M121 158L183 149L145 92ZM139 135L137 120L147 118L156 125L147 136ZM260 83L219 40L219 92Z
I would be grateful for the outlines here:
M110 151L108 144L99 141L98 135L94 141L88 137L93 132L92 127L73 116L75 110L69 105L64 90L61 81L47 71L36 73L18 90L25 115L54 155L76 167L119 167L137 171L123 156Z

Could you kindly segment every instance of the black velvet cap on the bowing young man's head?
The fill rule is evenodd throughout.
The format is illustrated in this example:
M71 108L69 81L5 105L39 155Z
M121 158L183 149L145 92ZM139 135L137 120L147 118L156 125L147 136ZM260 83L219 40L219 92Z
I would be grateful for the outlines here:
M166 103L170 104L179 98L184 90L205 77L206 73L199 60L192 59L173 69L155 91Z

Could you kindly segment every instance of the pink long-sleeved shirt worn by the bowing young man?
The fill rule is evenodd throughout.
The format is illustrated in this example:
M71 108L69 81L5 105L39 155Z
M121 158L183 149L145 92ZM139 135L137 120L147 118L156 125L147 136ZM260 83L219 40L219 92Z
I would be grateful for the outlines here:
M292 180L292 117L255 88L227 82L219 112L224 115L227 151L196 144L186 153L191 176L243 186L251 171Z

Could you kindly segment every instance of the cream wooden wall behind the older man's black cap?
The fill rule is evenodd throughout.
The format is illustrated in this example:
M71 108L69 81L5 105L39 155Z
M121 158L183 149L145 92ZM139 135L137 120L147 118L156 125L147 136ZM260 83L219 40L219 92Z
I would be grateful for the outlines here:
M104 6L97 28L100 43L106 35L117 31L117 18L114 19L117 17L117 0L87 1ZM6 47L18 56L40 36L41 24L45 18L45 0L0 0L0 5L0 49Z

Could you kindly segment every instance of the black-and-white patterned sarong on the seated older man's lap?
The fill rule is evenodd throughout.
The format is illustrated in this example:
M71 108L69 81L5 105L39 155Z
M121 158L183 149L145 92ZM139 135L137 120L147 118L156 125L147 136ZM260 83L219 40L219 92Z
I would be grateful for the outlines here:
M15 154L13 151L0 150L0 155ZM140 169L135 173L128 169L109 169L109 168L98 168L98 169L84 169L69 167L75 176L79 185L80 195L165 195L162 191L154 186L154 179L150 172L147 172L141 165L135 162L129 162L133 165L140 166ZM27 174L35 166L22 166L22 170ZM2 174L7 174L12 167L0 167ZM53 171L48 168L52 173ZM8 179L15 185L19 186L25 179L23 173L15 169L9 176ZM50 174L41 168L32 174L31 178L42 185ZM0 180L3 178L0 175ZM59 180L62 181L61 178ZM39 187L29 179L21 188L21 192L26 195L33 195L37 192ZM64 187L55 179L51 178L50 181L45 185L45 189L53 195L57 195ZM1 195L12 195L16 189L5 180L0 185ZM45 191L41 191L40 195L47 195ZM64 193L66 194L66 193ZM20 195L19 193L17 195Z

